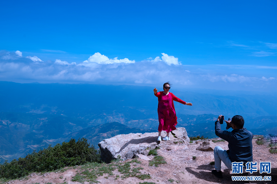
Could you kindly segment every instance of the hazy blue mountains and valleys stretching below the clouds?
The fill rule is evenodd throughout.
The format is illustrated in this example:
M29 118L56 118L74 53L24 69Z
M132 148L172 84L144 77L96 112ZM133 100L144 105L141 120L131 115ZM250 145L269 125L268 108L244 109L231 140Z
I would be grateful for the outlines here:
M219 114L242 115L254 134L277 132L274 96L171 92L193 103L175 102L177 127L189 136L216 137ZM118 134L157 132L157 105L147 86L0 82L0 163L70 138L86 137L98 148L98 142Z

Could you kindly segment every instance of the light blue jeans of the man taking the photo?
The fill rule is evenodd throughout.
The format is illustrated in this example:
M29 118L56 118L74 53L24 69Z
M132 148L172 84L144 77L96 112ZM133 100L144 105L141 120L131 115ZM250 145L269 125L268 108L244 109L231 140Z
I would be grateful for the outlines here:
M221 160L228 167L228 169L232 170L232 162L226 150L216 146L214 149L214 157L215 170L221 170Z

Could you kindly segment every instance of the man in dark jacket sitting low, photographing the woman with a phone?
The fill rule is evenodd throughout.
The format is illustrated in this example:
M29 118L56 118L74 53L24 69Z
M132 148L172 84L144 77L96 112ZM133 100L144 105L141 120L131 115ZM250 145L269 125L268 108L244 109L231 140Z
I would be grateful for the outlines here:
M215 134L228 142L229 149L223 150L219 146L214 149L215 170L212 170L212 174L218 178L223 178L221 173L221 161L223 161L230 170L232 170L232 162L243 162L244 166L247 162L253 162L253 134L243 127L243 117L236 115L230 118L229 121L225 121L227 123L227 128L233 128L232 132L228 132L226 130L221 130L219 122L221 116L222 115L219 115L215 122Z

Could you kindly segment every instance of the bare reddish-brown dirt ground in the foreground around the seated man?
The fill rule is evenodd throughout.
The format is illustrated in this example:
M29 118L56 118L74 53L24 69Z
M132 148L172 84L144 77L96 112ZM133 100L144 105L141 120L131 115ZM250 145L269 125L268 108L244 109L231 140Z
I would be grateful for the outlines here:
M277 183L277 154L271 154L267 148L267 144L258 145L256 144L256 139L253 139L253 161L258 162L258 172L249 174L249 176L271 176L271 181L232 181L231 171L222 163L223 178L216 178L211 171L214 169L214 165L210 165L214 161L213 151L198 151L196 148L199 146L201 141L197 141L196 144L189 144L188 149L179 149L177 151L167 150L165 148L160 148L158 154L163 156L167 164L161 164L159 167L149 166L148 160L138 159L141 164L138 166L143 167L141 170L142 174L149 174L151 179L140 180L136 177L129 178L116 178L116 175L122 176L118 170L114 171L114 175L106 177L107 174L99 176L97 180L99 183L103 184L138 184L139 182L154 182L156 184L176 184L176 183L201 183L201 184L212 184L212 183ZM223 149L228 149L227 142L216 142L216 146L220 146ZM183 144L178 143L172 145L183 146ZM183 146L184 147L184 146ZM196 159L193 160L192 157L195 156ZM154 156L148 156L148 158L153 159ZM121 161L123 163L130 160ZM271 173L270 174L259 174L259 162L271 162ZM49 173L33 173L25 177L25 179L12 180L7 183L18 183L18 184L32 184L32 183L68 183L77 184L79 182L71 181L72 177L75 176L77 172L80 171L80 166L69 167L68 170L64 172L49 172ZM236 174L239 175L239 174ZM85 184L88 182L84 182Z

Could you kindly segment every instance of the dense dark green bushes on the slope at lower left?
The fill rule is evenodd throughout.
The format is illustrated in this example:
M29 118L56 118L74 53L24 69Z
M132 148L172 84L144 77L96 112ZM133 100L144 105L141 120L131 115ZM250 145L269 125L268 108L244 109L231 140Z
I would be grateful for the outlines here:
M30 172L53 171L66 166L82 165L86 162L100 162L100 154L87 143L86 138L71 139L69 142L28 154L0 164L0 178L20 178Z

